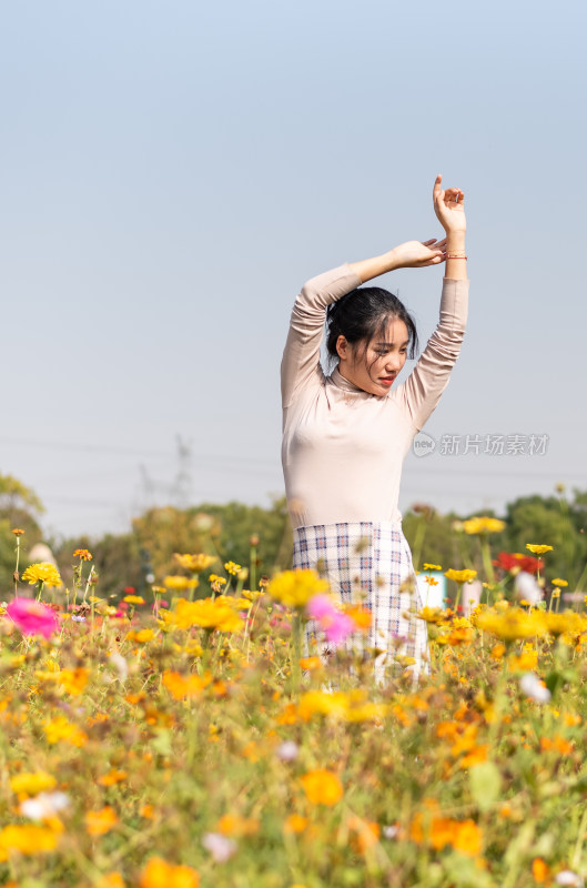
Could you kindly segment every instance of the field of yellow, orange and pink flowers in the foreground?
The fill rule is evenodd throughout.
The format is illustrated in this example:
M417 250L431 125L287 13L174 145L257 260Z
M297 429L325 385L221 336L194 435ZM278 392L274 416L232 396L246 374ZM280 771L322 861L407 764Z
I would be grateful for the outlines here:
M254 558L181 554L149 599L102 598L87 549L68 589L55 567L17 564L0 885L583 886L584 596L545 584L548 545L490 553L494 529L469 531L482 603L465 616L475 571L444 565L453 609L413 615L431 675L398 639L382 684L377 652L350 642L368 628L361 595L342 609L311 572L257 582ZM323 659L304 649L310 617Z

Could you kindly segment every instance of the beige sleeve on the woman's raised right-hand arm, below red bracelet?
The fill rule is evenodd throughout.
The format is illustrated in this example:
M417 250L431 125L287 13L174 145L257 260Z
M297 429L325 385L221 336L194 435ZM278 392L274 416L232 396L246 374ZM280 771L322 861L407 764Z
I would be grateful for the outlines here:
M436 330L406 382L393 393L418 430L448 384L465 335L467 306L468 281L445 278Z

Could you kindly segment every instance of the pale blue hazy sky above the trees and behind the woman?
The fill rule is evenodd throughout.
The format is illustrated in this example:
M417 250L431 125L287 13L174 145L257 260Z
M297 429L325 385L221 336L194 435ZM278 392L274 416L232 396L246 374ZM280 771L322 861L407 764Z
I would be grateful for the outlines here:
M3 3L0 471L48 532L280 494L295 294L439 234L437 172L466 192L470 321L426 432L549 441L408 456L401 505L586 488L586 19L500 0ZM424 341L441 279L382 279Z

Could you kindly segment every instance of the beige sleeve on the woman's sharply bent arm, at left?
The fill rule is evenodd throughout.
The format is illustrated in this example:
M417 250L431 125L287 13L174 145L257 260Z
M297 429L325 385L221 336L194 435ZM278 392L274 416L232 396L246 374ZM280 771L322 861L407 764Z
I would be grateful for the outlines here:
M361 286L361 279L348 264L340 265L307 281L292 311L290 332L281 364L282 404L289 407L296 394L322 381L320 346L326 309L332 302Z

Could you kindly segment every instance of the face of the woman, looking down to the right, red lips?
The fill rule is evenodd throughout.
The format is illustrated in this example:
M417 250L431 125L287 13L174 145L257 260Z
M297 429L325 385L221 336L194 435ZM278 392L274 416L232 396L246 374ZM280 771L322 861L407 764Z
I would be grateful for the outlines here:
M366 349L364 343L351 345L344 336L338 336L338 371L357 389L383 397L406 362L408 344L407 326L398 317L392 317L384 334L375 336Z

